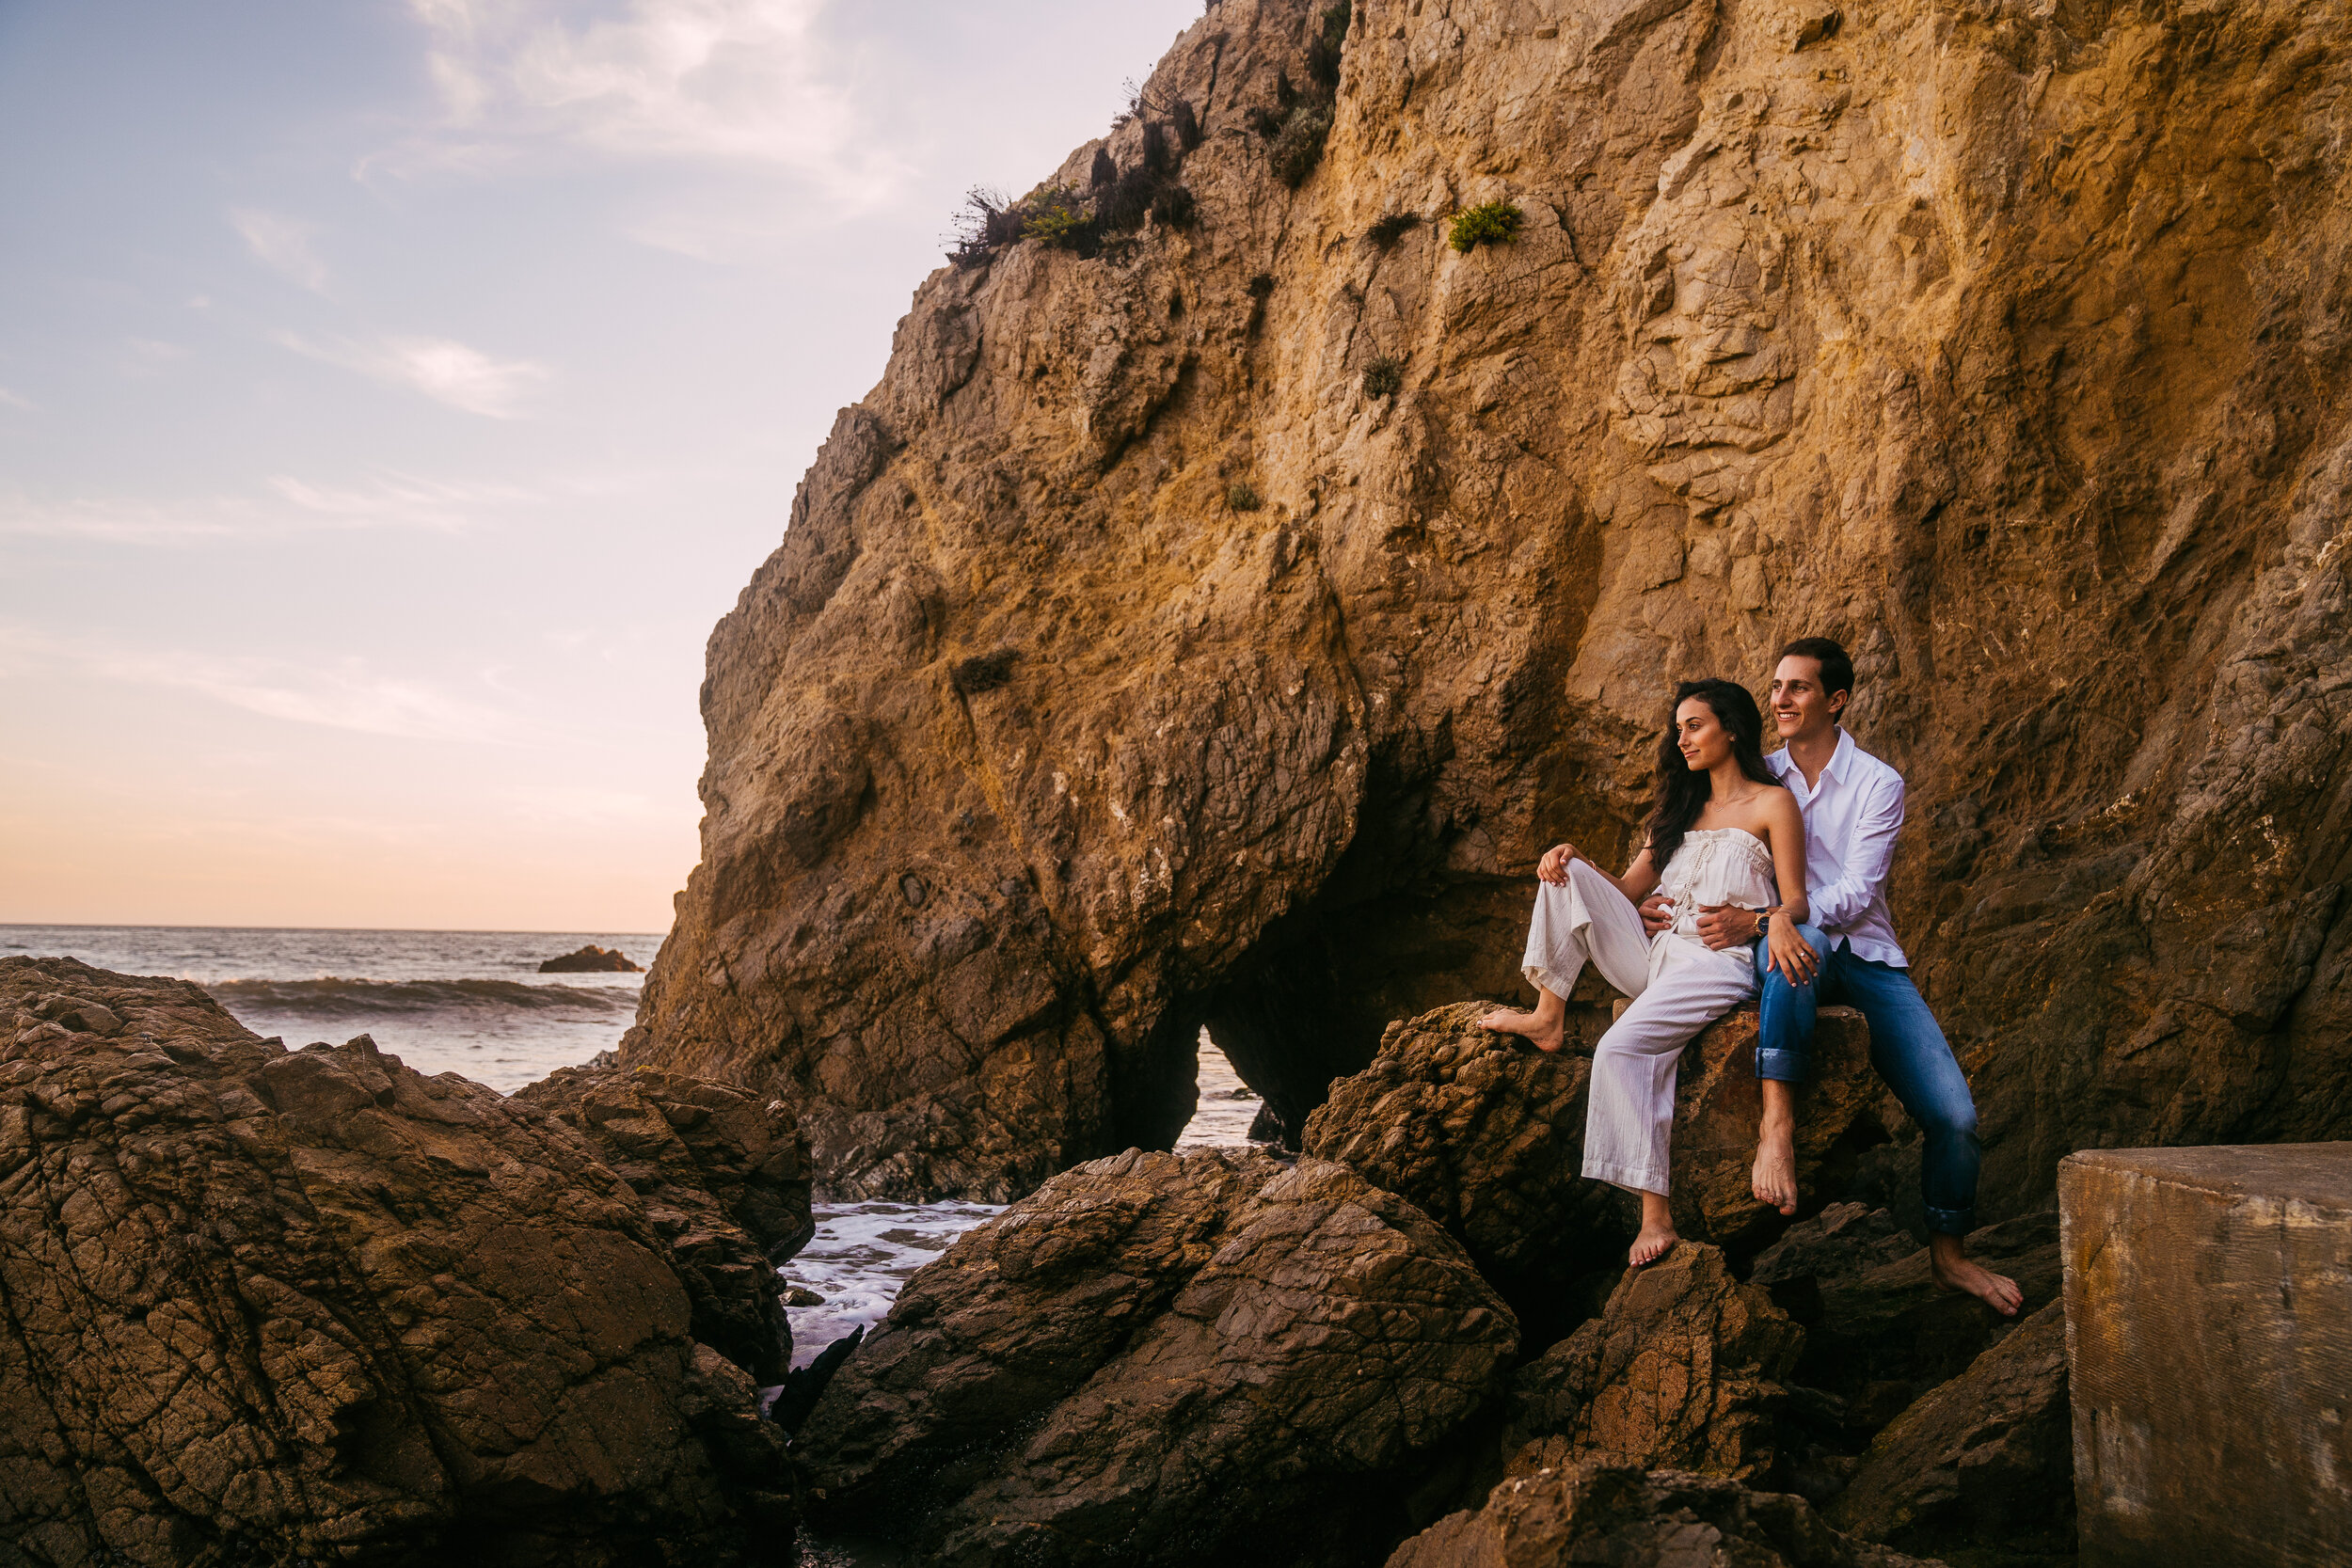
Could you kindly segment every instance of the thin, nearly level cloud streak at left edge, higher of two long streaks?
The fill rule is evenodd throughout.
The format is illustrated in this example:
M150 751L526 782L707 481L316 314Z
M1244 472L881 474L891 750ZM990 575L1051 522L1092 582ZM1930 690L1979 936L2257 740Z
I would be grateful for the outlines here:
M376 475L365 484L336 487L273 475L263 480L259 494L202 496L169 505L129 498L35 501L24 494L0 494L0 536L202 545L343 529L456 534L492 512L539 501L541 494L515 484Z

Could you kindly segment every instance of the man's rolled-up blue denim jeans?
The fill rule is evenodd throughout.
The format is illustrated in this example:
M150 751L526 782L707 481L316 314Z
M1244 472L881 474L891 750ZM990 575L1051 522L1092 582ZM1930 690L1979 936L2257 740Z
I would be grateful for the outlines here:
M1790 985L1778 969L1764 973L1771 954L1757 943L1757 978L1764 985L1757 1077L1802 1084L1813 1051L1813 1009L1835 1004L1856 1009L1870 1025L1870 1065L1926 1133L1926 1150L1919 1154L1926 1227L1945 1237L1969 1234L1976 1229L1976 1168L1983 1161L1983 1145L1976 1140L1969 1077L1952 1058L1936 1016L1926 1011L1910 971L1858 959L1846 943L1832 947L1813 926L1797 926L1797 936L1823 954L1811 985Z

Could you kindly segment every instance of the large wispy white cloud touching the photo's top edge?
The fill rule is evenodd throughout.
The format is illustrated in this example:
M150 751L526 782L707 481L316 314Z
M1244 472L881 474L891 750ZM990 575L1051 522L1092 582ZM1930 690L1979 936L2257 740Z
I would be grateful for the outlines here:
M906 167L870 148L828 0L409 0L442 118L383 155L489 172L548 148L769 167L884 200Z

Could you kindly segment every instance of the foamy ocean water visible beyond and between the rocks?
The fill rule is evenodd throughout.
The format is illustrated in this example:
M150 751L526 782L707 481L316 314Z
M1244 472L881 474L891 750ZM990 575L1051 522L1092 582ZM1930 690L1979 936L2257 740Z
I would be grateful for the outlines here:
M0 957L75 957L134 976L195 980L256 1034L289 1046L367 1034L419 1072L513 1093L621 1041L644 976L543 976L583 945L652 964L659 931L270 931L245 926L0 926ZM1209 1034L1200 1105L1176 1147L1240 1145L1258 1112ZM880 1324L898 1286L990 1204L818 1204L816 1237L783 1267L821 1298L790 1307L793 1359Z

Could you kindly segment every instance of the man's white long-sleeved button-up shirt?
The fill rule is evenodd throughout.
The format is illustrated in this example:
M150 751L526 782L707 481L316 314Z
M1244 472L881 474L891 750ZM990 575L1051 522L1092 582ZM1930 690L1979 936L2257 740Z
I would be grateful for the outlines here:
M1806 788L1788 750L1764 757L1804 811L1804 896L1811 924L1832 945L1849 943L1853 957L1910 969L1886 907L1886 879L1903 832L1903 773L1865 752L1839 726L1837 750Z

